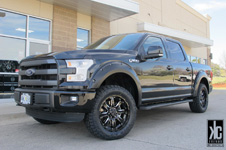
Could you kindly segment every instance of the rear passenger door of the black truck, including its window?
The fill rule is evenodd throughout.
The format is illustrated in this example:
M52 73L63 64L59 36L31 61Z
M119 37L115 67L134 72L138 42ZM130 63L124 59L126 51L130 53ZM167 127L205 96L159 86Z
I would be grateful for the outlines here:
M174 72L174 93L177 97L190 96L192 92L192 67L187 55L178 42L166 40L166 43Z

